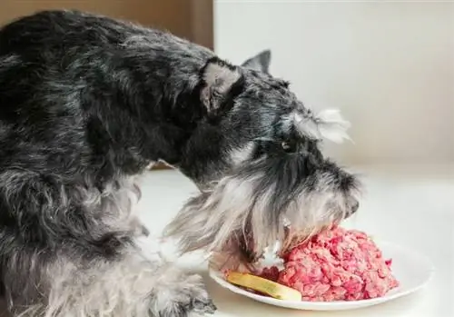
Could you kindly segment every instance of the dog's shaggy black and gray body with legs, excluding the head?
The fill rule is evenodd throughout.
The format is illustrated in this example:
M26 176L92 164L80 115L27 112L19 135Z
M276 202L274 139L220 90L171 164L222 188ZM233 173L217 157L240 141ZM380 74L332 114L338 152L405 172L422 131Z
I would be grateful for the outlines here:
M212 56L173 35L74 11L0 29L0 292L10 312L215 310L200 276L145 259L136 239L148 231L133 210L149 164L180 160L191 127L163 116L192 103L183 91Z

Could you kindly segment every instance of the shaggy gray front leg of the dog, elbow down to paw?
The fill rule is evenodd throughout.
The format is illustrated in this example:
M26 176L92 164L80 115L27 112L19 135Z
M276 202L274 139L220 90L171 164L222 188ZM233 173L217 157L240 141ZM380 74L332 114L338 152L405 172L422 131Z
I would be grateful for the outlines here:
M32 185L39 191L29 190ZM141 224L128 221L127 190L80 204L64 186L23 187L26 198L9 195L13 219L24 222L35 211L41 218L20 231L0 228L0 282L15 316L186 317L214 311L199 275L164 263L158 254L144 256L135 243Z

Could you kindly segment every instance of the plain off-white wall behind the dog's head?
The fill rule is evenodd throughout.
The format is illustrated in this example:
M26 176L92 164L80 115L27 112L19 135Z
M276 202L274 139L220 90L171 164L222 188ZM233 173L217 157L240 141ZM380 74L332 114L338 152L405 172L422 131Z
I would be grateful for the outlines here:
M341 108L341 161L454 162L454 3L217 0L214 22L222 57L271 48L303 102Z

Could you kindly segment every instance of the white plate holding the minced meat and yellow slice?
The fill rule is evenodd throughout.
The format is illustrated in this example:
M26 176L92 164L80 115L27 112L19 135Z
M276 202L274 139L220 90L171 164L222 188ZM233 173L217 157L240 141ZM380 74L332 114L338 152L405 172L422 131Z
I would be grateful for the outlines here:
M403 248L393 243L377 243L385 258L392 259L392 272L400 282L400 286L388 292L385 296L374 298L370 300L351 301L351 302L294 302L294 301L281 301L271 297L258 295L252 292L247 292L230 282L226 282L219 271L210 270L212 279L219 283L222 287L236 292L243 296L252 298L258 302L265 302L274 306L281 306L296 310L309 310L309 311L342 311L357 309L376 305L381 302L389 302L396 298L408 295L411 292L416 292L422 288L427 282L434 271L432 264L429 260L409 249Z

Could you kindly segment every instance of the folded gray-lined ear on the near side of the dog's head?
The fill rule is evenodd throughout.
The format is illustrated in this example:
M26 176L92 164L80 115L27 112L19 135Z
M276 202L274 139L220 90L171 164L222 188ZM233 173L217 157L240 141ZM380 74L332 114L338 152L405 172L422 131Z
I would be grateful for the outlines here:
M228 109L231 99L242 79L238 67L213 58L202 69L201 101L208 114L220 114Z

